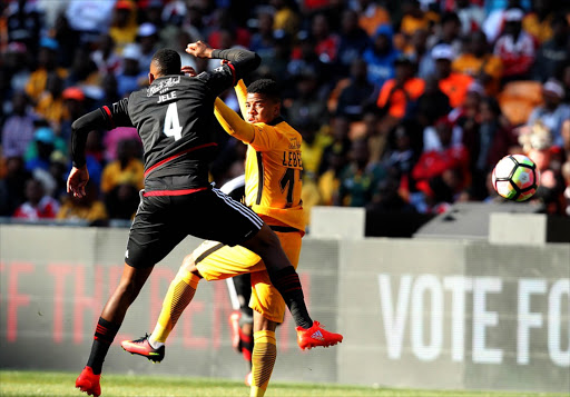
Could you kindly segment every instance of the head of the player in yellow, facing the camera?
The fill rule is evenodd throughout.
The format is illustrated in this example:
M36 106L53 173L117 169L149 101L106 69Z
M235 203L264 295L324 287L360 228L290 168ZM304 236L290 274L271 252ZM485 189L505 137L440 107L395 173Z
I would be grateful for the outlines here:
M279 88L274 80L261 79L247 87L246 99L249 122L271 122L281 113Z

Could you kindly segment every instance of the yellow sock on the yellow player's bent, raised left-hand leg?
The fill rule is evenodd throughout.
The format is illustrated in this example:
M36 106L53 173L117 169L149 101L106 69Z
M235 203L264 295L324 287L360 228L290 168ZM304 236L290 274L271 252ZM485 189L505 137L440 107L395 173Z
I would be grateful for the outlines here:
M170 335L184 309L194 298L200 278L187 270L180 269L163 301L163 310L158 317L155 330L150 335L151 340L165 343Z

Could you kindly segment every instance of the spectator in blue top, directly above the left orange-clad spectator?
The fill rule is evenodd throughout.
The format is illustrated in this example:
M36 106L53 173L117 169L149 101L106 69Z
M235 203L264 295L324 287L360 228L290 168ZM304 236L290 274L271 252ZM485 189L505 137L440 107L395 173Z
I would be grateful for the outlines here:
M394 77L394 60L400 51L394 48L393 31L390 24L382 24L374 33L372 46L362 58L368 64L368 81L380 90L385 81Z

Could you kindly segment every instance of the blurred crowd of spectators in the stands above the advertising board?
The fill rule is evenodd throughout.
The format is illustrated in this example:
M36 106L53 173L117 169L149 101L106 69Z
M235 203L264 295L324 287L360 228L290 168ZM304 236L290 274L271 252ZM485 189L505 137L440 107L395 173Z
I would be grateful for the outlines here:
M242 46L249 78L282 87L314 205L441 214L494 201L494 165L524 153L533 200L570 216L568 0L8 0L0 3L0 216L131 219L142 188L134 128L89 133L88 195L66 193L71 123L148 85L154 52ZM248 81L246 81L247 83ZM238 110L232 90L223 98ZM217 186L245 145L218 128ZM308 222L308 220L307 220Z

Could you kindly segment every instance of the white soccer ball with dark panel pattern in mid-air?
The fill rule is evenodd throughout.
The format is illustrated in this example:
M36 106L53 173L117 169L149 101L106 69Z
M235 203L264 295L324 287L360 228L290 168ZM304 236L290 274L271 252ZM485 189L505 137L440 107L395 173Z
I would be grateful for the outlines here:
M537 192L539 176L537 165L527 156L509 155L493 169L493 188L505 199L524 201Z

